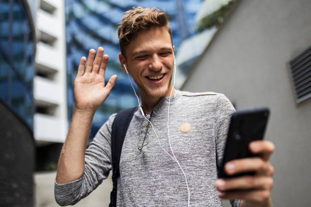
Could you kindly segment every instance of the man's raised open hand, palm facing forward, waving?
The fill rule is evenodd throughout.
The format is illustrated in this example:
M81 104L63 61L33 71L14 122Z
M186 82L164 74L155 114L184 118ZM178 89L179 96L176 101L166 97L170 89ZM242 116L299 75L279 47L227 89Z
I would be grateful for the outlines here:
M110 77L105 86L105 71L108 55L104 55L104 48L96 51L90 49L84 70L86 58L80 60L77 77L74 82L75 110L95 112L106 100L115 85L116 75Z

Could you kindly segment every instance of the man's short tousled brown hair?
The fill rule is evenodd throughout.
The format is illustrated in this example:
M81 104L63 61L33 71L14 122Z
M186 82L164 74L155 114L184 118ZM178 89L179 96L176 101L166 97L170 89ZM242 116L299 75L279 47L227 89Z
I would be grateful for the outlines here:
M172 40L172 29L169 24L170 16L160 8L133 7L125 12L118 26L118 38L121 54L125 56L125 48L142 29L153 26L166 27Z

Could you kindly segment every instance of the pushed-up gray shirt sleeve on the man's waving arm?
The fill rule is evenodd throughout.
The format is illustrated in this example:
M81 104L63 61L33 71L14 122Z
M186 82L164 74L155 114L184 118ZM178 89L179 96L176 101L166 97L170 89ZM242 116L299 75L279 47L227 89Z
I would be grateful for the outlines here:
M85 151L81 178L66 184L54 183L54 196L61 205L73 205L95 190L109 175L111 165L111 128L116 114L99 129Z

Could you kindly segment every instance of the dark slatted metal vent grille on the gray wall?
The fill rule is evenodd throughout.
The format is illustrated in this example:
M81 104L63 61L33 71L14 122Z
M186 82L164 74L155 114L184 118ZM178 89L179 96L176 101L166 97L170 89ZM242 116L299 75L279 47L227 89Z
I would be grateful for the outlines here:
M311 45L289 61L296 102L311 97Z

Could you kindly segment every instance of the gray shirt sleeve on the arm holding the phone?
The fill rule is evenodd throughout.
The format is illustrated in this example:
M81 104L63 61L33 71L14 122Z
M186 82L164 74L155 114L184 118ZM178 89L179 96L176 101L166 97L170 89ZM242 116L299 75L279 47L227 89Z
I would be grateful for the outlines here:
M220 94L217 99L215 110L215 145L217 169L222 166L229 123L233 112L235 112L235 109L232 106L230 100L224 94ZM240 206L240 200L230 200L230 203L233 207Z

